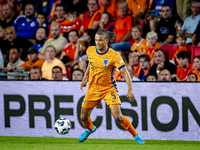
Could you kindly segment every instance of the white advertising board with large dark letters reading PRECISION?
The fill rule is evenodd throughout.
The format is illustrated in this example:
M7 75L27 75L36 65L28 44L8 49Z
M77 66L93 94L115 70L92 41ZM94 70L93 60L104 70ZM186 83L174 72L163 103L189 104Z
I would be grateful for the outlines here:
M87 88L80 82L0 81L0 136L78 138L85 130L80 109ZM200 141L199 83L133 83L136 100L126 98L126 82L117 82L121 108L144 139ZM67 118L67 135L54 130L58 118ZM131 139L111 116L102 100L92 112L97 131L90 138Z

